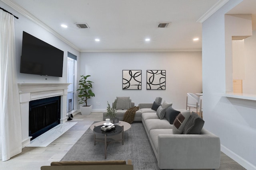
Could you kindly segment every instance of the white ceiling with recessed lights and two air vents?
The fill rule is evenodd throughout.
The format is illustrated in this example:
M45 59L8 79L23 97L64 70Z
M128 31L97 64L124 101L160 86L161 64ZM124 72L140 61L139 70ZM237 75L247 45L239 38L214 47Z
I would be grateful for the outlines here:
M202 24L198 20L228 0L8 1L24 8L79 51L201 51ZM159 22L171 24L158 28ZM90 28L79 29L74 23L87 23ZM194 42L195 37L199 41ZM144 41L146 38L150 41Z

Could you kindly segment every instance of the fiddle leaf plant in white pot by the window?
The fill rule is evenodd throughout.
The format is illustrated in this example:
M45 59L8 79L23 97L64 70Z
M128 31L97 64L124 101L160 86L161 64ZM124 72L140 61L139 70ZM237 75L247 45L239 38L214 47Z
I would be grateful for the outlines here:
M91 97L94 97L95 94L92 92L92 81L87 80L90 75L87 76L80 76L81 79L79 80L79 88L77 89L78 97L80 98L78 100L79 104L85 104L84 106L80 106L80 111L82 115L89 115L92 112L92 105L87 105L87 100Z

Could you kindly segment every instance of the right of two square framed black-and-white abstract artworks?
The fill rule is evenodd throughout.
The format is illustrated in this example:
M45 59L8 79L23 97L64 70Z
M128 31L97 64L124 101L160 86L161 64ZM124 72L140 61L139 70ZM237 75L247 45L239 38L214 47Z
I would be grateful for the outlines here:
M165 90L166 70L147 70L147 90Z

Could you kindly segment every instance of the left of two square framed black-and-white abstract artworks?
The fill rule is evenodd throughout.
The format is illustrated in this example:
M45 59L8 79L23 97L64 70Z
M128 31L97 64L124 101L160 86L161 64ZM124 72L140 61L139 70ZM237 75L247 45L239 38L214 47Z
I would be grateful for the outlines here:
M141 90L141 70L123 70L123 90Z

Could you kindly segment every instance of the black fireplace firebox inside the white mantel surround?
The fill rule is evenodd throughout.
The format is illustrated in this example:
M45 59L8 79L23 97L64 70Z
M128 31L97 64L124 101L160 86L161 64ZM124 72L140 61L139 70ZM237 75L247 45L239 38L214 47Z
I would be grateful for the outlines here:
M60 124L60 96L30 101L28 122L31 141Z

